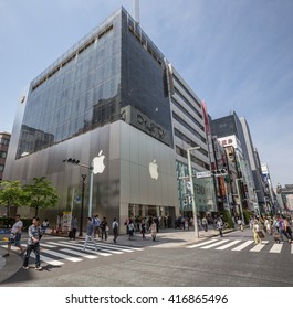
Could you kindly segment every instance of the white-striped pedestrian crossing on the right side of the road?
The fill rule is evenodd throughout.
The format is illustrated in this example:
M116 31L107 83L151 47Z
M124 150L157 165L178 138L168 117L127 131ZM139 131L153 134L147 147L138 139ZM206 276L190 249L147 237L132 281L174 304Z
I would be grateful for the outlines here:
M212 238L199 244L188 245L186 248L199 248L202 251L216 249L216 251L231 251L242 252L248 251L251 253L268 252L270 254L280 254L287 252L286 246L290 247L290 254L293 254L293 244L275 244L273 241L262 241L261 244L255 244L254 241L244 239L230 239L230 238Z

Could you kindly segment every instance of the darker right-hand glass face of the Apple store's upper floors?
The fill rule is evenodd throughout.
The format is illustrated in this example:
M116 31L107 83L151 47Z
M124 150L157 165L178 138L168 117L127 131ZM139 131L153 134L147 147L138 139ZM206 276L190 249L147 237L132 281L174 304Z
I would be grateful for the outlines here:
M137 23L124 14L122 115L130 125L172 147L164 55Z

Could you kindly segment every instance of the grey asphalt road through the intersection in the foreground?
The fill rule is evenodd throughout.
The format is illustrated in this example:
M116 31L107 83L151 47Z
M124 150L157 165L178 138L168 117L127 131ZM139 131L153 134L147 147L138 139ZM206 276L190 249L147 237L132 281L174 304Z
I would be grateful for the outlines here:
M234 249L248 241L250 244L247 247ZM223 238L205 238L195 243L193 247L192 243L145 246L140 251L119 246L118 249L124 247L126 251L114 254L113 249L116 248L111 244L109 255L98 255L79 263L66 260L62 265L44 263L42 271L19 269L1 286L293 287L293 245L284 243L275 247L272 237L266 236L268 244L258 251L252 241L251 231L245 230L227 234ZM53 245L52 239L48 242ZM71 248L56 248L65 253L64 249ZM18 258L21 263L21 258Z

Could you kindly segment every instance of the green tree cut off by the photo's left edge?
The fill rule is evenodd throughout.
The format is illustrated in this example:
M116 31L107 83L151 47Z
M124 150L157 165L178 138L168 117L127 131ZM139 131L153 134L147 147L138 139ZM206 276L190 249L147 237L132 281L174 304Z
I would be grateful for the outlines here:
M23 198L24 194L20 181L0 182L0 205L7 206L7 217L10 217L10 206L20 206Z

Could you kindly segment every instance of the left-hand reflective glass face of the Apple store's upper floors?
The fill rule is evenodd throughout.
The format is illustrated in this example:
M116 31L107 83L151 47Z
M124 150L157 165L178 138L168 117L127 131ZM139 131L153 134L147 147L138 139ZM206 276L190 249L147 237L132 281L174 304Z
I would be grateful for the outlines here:
M31 83L17 158L117 120L119 86L116 15Z

